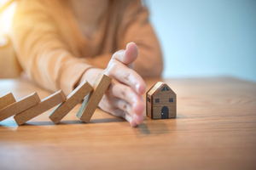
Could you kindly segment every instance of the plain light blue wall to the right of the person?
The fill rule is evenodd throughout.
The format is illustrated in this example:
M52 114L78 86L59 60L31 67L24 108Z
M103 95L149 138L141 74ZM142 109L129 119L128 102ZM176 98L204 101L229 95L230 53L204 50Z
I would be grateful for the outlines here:
M147 0L165 59L163 77L256 82L255 0Z

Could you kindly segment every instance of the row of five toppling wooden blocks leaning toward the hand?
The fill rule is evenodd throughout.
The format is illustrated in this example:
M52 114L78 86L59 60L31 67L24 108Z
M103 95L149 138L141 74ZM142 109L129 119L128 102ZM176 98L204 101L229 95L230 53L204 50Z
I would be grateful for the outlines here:
M111 78L100 73L93 86L89 82L82 82L66 98L62 90L40 100L35 92L16 101L13 94L6 94L0 98L0 122L4 119L14 116L18 125L31 120L44 111L48 111L55 105L58 105L54 111L49 114L49 119L55 124L59 123L67 113L84 99L77 116L84 122L90 122L90 118L99 105L103 94L105 94L111 82Z

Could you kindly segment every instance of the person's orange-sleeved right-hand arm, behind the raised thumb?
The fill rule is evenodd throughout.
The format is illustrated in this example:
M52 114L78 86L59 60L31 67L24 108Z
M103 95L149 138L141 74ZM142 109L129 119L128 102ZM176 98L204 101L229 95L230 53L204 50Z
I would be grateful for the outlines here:
M138 58L134 70L142 77L160 77L163 71L163 60L160 43L148 20L148 9L141 0L131 0L125 8L124 16L118 31L119 47L124 49L128 42L135 42L138 47Z

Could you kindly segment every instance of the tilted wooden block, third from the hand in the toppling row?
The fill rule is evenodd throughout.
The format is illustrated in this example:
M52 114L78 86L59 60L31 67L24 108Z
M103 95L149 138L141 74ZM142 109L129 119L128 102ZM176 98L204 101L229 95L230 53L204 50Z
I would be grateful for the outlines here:
M42 101L38 103L38 105L35 105L32 108L26 111L22 111L19 114L15 115L14 116L15 122L17 122L18 125L22 125L23 123L31 120L35 116L38 116L41 113L44 113L44 111L48 111L50 108L60 104L65 100L66 100L66 96L62 92L62 90L60 90L55 94L51 94L47 98L42 99Z

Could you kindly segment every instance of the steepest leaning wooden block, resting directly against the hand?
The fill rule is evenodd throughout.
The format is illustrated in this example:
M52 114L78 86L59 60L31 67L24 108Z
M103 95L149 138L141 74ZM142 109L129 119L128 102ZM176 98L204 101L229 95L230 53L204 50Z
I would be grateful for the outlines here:
M90 92L84 99L77 116L84 122L90 122L96 107L99 105L103 95L105 94L112 78L100 73L93 84L94 90Z

